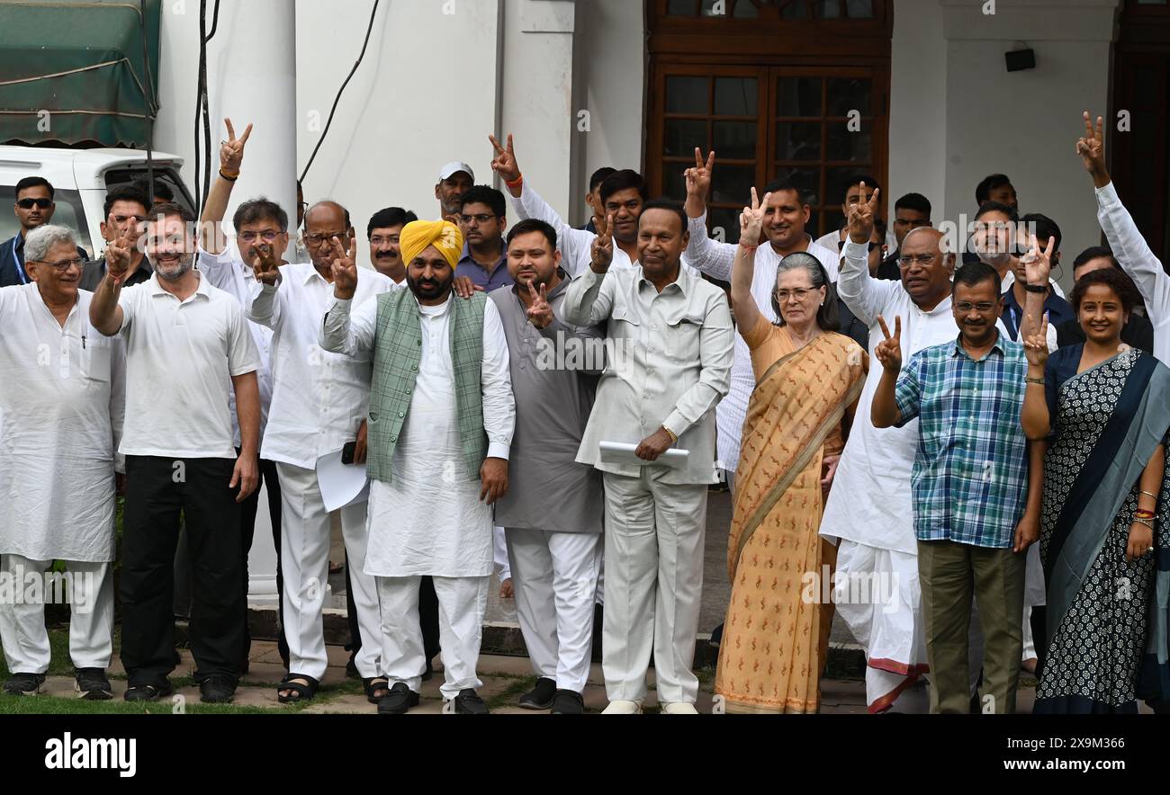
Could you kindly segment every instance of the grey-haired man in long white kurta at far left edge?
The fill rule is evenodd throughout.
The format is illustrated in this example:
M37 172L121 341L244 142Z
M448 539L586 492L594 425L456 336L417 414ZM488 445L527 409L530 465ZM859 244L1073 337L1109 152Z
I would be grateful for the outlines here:
M125 355L89 323L76 251L64 227L34 229L25 243L34 282L0 290L0 640L6 692L37 692L49 668L44 573L64 561L77 691L104 700Z

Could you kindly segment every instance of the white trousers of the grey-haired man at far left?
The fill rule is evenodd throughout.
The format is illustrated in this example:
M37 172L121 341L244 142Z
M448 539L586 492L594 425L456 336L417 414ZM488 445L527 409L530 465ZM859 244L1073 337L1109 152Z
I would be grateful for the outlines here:
M4 555L2 576L12 599L0 604L0 640L13 673L49 670L44 604L63 595L69 602L69 657L75 668L106 669L113 654L113 578L110 564L66 561L67 574L46 575L51 560ZM33 582L36 585L33 585ZM54 583L56 581L57 585ZM7 588L0 589L0 592ZM51 593L49 593L51 592Z

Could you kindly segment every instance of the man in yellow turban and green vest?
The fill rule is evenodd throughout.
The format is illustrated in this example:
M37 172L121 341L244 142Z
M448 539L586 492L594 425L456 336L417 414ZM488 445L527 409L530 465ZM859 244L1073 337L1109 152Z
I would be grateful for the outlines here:
M453 292L463 247L457 227L413 221L400 247L410 289L351 312L353 249L335 242L333 302L319 340L326 351L373 359L365 571L378 583L391 685L378 712L401 714L419 703L427 662L419 587L429 576L442 608L447 708L486 714L475 665L493 568L491 505L508 491L516 424L508 341L484 293Z

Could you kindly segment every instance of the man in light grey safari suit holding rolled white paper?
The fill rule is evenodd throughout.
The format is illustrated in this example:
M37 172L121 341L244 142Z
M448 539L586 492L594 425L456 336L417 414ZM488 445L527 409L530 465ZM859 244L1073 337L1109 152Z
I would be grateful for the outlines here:
M728 392L734 332L723 291L681 264L680 206L646 205L638 241L641 264L611 270L615 246L599 237L592 264L565 291L564 320L608 320L612 346L577 461L605 482L606 712L641 711L653 649L659 704L684 714L698 694L690 665L715 482L713 409ZM601 442L634 444L641 461L607 461ZM660 461L675 445L689 451L680 468Z

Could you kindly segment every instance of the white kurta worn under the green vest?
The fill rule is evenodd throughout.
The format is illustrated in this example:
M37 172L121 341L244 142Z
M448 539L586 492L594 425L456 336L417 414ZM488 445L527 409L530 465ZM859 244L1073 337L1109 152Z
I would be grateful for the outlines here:
M493 509L480 500L480 481L466 477L459 440L450 300L440 306L419 306L422 358L394 447L393 481L374 481L370 485L366 574L391 578L491 574ZM372 347L377 302L366 302L353 313L344 345L338 339L330 340L335 337L331 329L336 329L331 318L347 305L349 302L333 303L323 330L325 350ZM508 341L500 312L490 300L483 312L483 424L488 456L507 459L516 406L508 371Z

